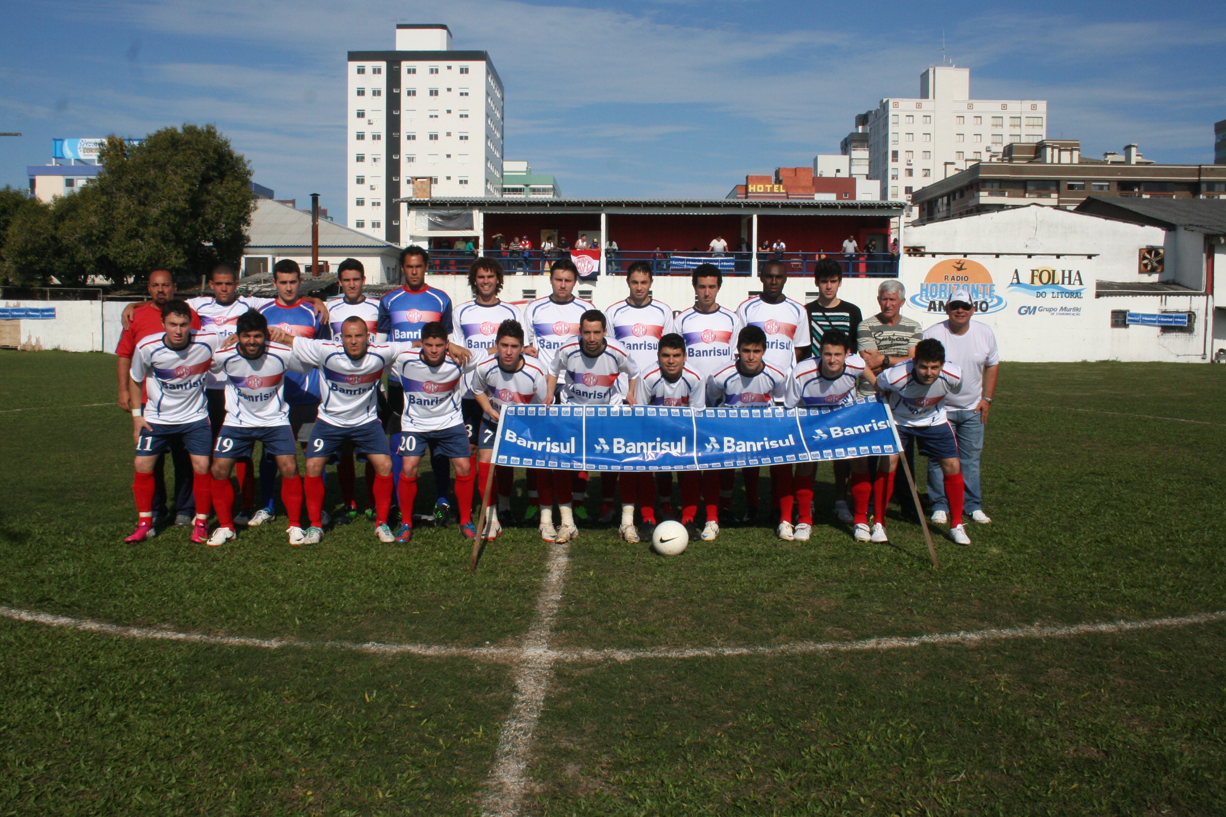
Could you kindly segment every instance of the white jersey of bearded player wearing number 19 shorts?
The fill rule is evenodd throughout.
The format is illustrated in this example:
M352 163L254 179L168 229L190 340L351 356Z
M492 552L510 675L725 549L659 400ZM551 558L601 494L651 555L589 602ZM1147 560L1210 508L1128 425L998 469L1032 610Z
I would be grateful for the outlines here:
M213 355L212 372L226 381L226 425L240 429L265 429L289 423L286 403L287 371L304 375L306 364L293 349L270 343L255 360L239 354L238 347L222 349Z

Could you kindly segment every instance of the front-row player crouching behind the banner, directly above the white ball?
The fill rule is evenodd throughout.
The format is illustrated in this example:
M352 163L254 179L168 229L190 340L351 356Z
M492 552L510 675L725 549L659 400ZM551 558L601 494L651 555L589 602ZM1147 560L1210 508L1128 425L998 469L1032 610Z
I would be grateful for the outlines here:
M635 262L639 263L639 262ZM679 405L702 408L706 405L706 378L685 365L685 338L669 332L660 338L656 349L656 363L644 370L634 390L634 402L640 405ZM712 474L706 472L702 475ZM701 492L699 472L680 472L682 486L682 524L694 529L694 517L698 514L699 495ZM650 473L622 474L622 538L634 543L639 540L634 530L635 483L638 483L639 512L642 523L655 525L656 513L652 506L652 479ZM672 492L669 478L669 492ZM718 524L720 481L714 478L707 485L706 527L702 540L711 541L720 535ZM629 513L626 511L629 510ZM630 517L629 521L626 517ZM694 532L698 535L698 532Z

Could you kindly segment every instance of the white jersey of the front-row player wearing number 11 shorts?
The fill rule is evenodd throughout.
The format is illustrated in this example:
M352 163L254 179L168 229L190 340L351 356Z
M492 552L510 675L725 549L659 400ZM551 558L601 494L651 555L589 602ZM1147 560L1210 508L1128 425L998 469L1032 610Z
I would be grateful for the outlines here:
M205 382L221 342L212 332L191 332L188 345L172 349L166 334L141 338L132 355L132 380L145 381L145 419L181 425L208 419ZM152 377L150 376L152 375Z

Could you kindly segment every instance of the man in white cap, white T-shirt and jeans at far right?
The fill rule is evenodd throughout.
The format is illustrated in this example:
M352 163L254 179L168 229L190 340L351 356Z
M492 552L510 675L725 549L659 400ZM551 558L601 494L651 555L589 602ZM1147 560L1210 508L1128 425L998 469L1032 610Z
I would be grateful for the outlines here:
M980 453L983 451L983 426L988 421L992 396L996 393L1000 355L997 353L996 334L986 325L972 322L975 301L967 287L959 287L945 301L942 321L924 329L924 338L937 338L945 347L945 359L962 370L962 390L945 398L945 414L958 440L958 458L962 464L966 483L966 511L980 524L992 522L983 512L980 492ZM945 499L945 481L940 463L928 461L928 500L932 502L932 521L944 524L949 514Z

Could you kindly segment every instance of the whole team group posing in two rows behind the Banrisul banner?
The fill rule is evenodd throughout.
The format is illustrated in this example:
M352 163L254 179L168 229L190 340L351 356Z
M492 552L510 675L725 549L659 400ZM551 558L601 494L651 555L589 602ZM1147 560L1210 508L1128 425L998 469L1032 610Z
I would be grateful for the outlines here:
M808 306L783 293L785 265L765 262L761 293L736 310L718 304L720 268L701 265L691 274L694 305L679 312L651 296L649 262L630 266L626 298L603 311L575 296L579 272L569 258L552 263L552 292L522 309L499 299L504 271L495 258L471 263L473 300L459 306L427 283L427 250L406 247L398 266L402 285L376 300L363 294L362 263L342 262L342 293L326 303L299 296L302 271L292 260L273 268L275 299L239 295L237 276L226 266L210 276L212 295L189 300L174 298L167 271L151 273L151 300L125 310L116 350L119 402L132 414L136 446L137 525L126 541L152 539L164 524L159 467L170 454L177 472L190 463L190 489L186 479L177 479L175 511L180 524L190 524L194 543L217 548L234 541L240 529L277 524L280 499L294 546L318 545L332 524L363 516L379 541L408 544L414 519L446 525L455 514L460 533L479 549L482 540L498 539L504 524L517 522L511 518L514 468L495 465L493 454L501 412L520 405L718 407L749 418L745 409L880 401L881 419L859 427L889 421L894 445L874 446L872 456L864 456L867 446L840 447L832 463L837 499L830 511L851 523L853 540L889 541L885 511L906 456L901 451L929 458L932 522L948 524L950 540L971 544L964 512L991 522L978 507L977 462L970 484L962 474L959 445L973 445L973 437L960 440L946 416L946 407L969 410L982 424L996 387L996 343L980 337L978 325L970 331L969 290L953 292L945 334L924 337L899 316L905 293L896 280L879 288L884 321L864 321L857 307L840 301L841 268L834 261L818 266L814 277L824 296ZM948 359L950 342L972 356L965 375ZM506 434L511 443L533 445ZM617 442L623 448L615 453L641 453L634 458L640 464L671 453L667 446L628 450ZM541 445L558 448L537 443L538 451ZM748 442L725 437L723 445L754 451L777 443L750 436ZM427 451L436 497L433 503L425 497L423 512L414 513ZM759 470L765 467L766 523L781 540L808 541L817 463L794 459L747 464L742 458L728 462L739 469L678 470L677 512L673 473L658 467L602 472L601 510L592 522L615 525L626 543L646 535L657 552L680 552L691 539L715 541L721 523L760 522ZM365 469L362 497L357 462ZM527 468L528 505L519 522L535 523L546 543L568 543L588 517L588 474L524 461L530 463L537 467ZM324 507L330 464L343 499L341 518ZM906 463L904 469L910 474ZM748 508L736 518L738 470ZM476 516L474 495L481 497Z

